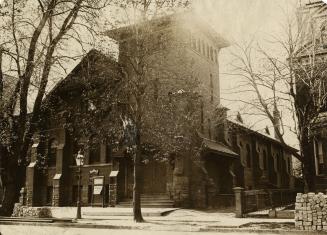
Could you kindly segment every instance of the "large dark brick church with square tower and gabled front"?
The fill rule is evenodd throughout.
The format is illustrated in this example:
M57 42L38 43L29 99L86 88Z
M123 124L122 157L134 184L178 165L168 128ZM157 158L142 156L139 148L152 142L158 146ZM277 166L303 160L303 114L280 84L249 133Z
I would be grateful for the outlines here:
M165 163L144 164L144 197L151 201L159 195L165 200L164 206L205 208L231 206L235 186L246 189L292 187L290 152L294 149L241 123L227 120L227 110L220 106L218 54L228 43L203 22L185 15L154 20L147 27L151 29L144 34L147 43L156 50L147 58L152 65L147 70L149 87L153 90L153 100L149 103L168 98L168 94L182 89L188 84L185 79L197 78L200 84L197 92L202 97L198 147L202 151L200 158L185 153ZM106 139L93 142L91 134L84 137L84 142L76 142L66 125L69 119L66 110L80 107L78 110L90 112L96 109L96 104L83 104L83 91L90 89L84 85L85 81L92 84L92 89L100 89L98 79L112 79L114 86L122 77L122 67L128 76L134 75L128 64L128 54L135 49L132 32L130 26L108 32L119 43L118 62L92 50L47 98L53 110L49 117L56 119L44 121L44 129L41 128L31 148L26 179L29 206L76 203L74 156L85 143L92 147L84 151L83 205L126 205L131 199L133 167L131 158L123 151L124 146L117 147ZM223 117L220 122L223 125L216 125L216 114ZM146 141L151 143L151 136ZM38 154L46 156L48 168L44 171L36 168ZM104 179L100 187L94 187L94 177L98 182ZM146 201L143 205L151 206Z

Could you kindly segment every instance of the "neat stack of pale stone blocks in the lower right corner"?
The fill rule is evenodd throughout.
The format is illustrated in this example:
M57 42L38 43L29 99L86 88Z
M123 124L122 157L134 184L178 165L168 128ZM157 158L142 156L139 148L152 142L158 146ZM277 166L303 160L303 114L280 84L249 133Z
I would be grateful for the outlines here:
M327 231L327 195L298 193L295 203L295 227L300 230Z

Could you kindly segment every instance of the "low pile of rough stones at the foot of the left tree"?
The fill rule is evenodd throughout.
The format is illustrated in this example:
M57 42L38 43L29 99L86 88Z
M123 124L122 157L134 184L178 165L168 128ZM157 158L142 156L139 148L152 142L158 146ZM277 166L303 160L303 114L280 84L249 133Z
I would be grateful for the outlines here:
M16 203L12 217L52 218L52 214L48 207L28 207Z

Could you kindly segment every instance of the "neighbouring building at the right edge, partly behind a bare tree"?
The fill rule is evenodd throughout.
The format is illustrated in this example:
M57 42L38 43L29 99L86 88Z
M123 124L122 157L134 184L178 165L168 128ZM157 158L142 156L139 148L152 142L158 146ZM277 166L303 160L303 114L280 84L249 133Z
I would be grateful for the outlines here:
M317 93L325 95L326 89L326 62L327 62L327 4L323 1L313 1L303 5L299 9L299 19L303 22L302 47L297 52L299 64L299 76L297 89L300 104L304 103L308 89L303 85L302 80L307 80L303 71L308 71L312 79L319 81ZM302 75L301 75L302 73ZM307 76L310 78L310 76ZM316 83L318 84L318 83ZM304 99L304 101L302 100ZM312 164L315 167L316 190L327 189L327 102L320 99L322 103L319 114L313 117L310 127L312 144L308 146L312 152ZM313 110L314 112L314 110Z

